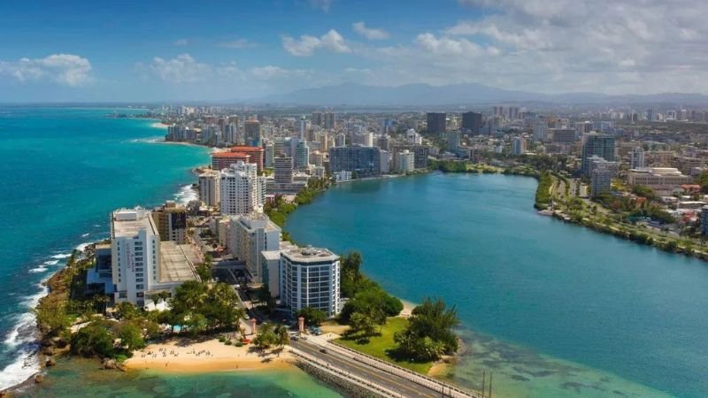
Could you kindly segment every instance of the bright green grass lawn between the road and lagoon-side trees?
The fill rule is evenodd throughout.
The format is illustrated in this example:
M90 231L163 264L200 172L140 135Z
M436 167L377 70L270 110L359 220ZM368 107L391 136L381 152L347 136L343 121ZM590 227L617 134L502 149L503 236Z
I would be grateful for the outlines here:
M408 320L404 318L389 318L381 330L381 335L370 337L366 343L346 338L337 339L336 342L342 344L342 346L361 351L364 354L376 356L392 364L427 374L427 371L433 366L432 362L411 362L396 355L396 342L393 341L393 333L404 330L407 324Z

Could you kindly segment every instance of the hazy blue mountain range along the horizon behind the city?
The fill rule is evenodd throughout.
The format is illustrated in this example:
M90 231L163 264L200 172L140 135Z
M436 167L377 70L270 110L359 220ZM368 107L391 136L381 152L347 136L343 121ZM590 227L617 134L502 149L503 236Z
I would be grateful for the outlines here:
M476 83L450 84L447 86L408 84L397 87L342 83L335 86L304 88L289 94L251 99L249 102L352 107L371 105L472 105L484 103L675 103L708 105L708 96L683 93L627 96L609 96L600 93L542 94L492 88Z

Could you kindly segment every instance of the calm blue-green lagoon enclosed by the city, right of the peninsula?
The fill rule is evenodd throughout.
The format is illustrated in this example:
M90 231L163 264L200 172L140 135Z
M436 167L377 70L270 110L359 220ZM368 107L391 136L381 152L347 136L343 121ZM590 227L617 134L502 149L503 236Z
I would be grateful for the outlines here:
M708 396L708 264L538 216L536 182L432 174L342 184L296 241L343 253L412 302L457 305L453 379L494 396ZM489 385L489 381L488 381Z

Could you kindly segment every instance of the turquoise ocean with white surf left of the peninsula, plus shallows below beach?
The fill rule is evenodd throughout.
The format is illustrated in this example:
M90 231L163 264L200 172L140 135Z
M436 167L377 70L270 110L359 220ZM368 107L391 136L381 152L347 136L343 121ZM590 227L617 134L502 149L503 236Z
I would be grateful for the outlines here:
M29 313L40 282L72 249L108 236L112 210L188 200L204 148L156 142L154 120L107 119L113 110L0 107L0 389L37 364ZM129 112L121 110L121 112ZM305 394L305 392L308 392ZM71 361L35 396L333 396L301 371L182 375L96 371Z

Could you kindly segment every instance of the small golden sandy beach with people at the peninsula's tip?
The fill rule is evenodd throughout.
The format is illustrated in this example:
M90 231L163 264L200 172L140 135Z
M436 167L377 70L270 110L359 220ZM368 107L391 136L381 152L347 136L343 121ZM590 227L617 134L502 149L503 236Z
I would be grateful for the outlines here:
M186 341L175 339L161 344L150 344L135 351L127 359L128 369L170 372L255 371L283 369L292 366L292 355L286 349L265 353L253 346L227 346L216 339Z

